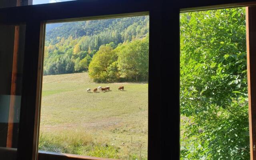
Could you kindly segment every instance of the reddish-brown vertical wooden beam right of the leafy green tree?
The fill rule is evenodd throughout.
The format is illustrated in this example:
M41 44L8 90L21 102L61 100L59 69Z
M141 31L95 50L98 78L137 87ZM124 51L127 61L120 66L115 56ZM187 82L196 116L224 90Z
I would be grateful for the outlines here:
M256 7L246 7L250 160L256 160Z

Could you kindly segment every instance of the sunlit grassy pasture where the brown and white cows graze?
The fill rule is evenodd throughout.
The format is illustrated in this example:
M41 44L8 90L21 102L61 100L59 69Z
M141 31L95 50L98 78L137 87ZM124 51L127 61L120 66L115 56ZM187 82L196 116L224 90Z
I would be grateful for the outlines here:
M93 93L98 86L110 91ZM147 159L147 83L96 84L77 73L44 76L42 88L40 150Z

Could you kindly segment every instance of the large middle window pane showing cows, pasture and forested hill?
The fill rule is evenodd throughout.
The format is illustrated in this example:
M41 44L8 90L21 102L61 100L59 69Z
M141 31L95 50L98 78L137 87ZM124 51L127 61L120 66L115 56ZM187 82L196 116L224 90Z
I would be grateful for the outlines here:
M149 16L46 24L39 150L146 160Z

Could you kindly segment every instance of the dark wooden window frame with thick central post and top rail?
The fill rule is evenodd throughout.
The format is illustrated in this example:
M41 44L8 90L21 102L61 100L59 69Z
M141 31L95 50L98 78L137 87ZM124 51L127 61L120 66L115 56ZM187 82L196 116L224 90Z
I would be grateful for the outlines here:
M18 160L35 160L38 152L45 22L113 18L149 13L148 159L178 160L180 157L179 14L186 11L255 4L256 2L250 0L77 0L1 8L0 25L26 24ZM256 63L254 65L251 63L251 71L252 68L256 68ZM172 89L166 91L166 84L170 82ZM250 87L252 85L249 86L249 89L252 89ZM249 91L252 92L252 90ZM253 90L253 92L256 91ZM252 103L254 103L253 100L250 106L254 105ZM250 127L253 128L252 125ZM252 137L252 134L250 135ZM255 160L254 157L251 156L251 160ZM59 158L56 157L56 159Z

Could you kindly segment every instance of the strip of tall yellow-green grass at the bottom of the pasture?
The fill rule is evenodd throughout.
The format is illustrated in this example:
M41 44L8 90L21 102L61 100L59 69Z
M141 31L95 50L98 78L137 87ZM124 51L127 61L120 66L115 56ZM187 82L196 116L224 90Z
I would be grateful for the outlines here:
M93 138L91 134L81 131L41 132L39 150L114 158L124 160L146 160L145 157L131 152L134 148L127 148L128 153L120 152L120 148L106 143L104 139Z

